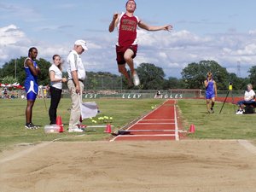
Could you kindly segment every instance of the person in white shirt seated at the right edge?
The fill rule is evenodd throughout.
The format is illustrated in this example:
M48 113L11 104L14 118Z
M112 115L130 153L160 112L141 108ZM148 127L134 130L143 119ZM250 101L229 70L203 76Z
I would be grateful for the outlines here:
M237 102L239 109L236 114L242 114L244 105L253 104L255 102L255 92L252 84L247 84L247 90L244 93L244 100Z

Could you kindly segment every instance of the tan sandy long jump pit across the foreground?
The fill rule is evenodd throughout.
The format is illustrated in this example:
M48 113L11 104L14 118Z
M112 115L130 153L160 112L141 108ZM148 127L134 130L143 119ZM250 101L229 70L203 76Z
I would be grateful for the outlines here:
M0 191L256 191L255 148L244 145L218 140L46 143L0 154Z

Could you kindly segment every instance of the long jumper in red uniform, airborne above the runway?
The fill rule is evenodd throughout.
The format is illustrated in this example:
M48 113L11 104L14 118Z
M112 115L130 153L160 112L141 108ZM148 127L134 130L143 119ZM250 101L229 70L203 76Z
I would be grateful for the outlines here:
M125 5L126 12L122 14L115 13L113 20L111 21L108 31L113 32L114 28L118 28L119 38L116 44L116 61L119 67L119 73L125 75L128 80L129 86L132 85L131 77L134 85L140 84L140 79L137 76L137 72L134 70L133 59L137 54L137 26L147 31L160 31L172 30L172 25L166 26L148 26L137 16L133 15L137 5L134 0L128 0ZM125 63L128 64L131 70L131 77L126 71Z

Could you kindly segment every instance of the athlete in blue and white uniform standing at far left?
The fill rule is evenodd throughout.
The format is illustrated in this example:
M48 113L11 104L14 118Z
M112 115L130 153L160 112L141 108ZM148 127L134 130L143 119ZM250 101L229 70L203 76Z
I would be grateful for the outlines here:
M26 72L25 89L26 89L26 125L27 129L38 129L39 127L32 124L32 108L38 96L38 74L40 68L35 61L38 56L38 49L32 47L28 50L28 57L24 61L24 68Z

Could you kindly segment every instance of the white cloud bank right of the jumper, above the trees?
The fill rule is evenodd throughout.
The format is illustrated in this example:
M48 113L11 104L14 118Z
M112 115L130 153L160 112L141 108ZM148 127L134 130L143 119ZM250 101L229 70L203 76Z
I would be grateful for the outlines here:
M141 53L147 57L157 58L156 65L165 71L177 67L180 72L183 63L201 60L215 60L223 67L234 71L237 62L241 62L241 74L247 75L249 67L255 65L256 30L247 33L220 33L197 36L186 30L179 32L141 32ZM138 52L138 56L140 55ZM167 75L177 76L176 73Z

